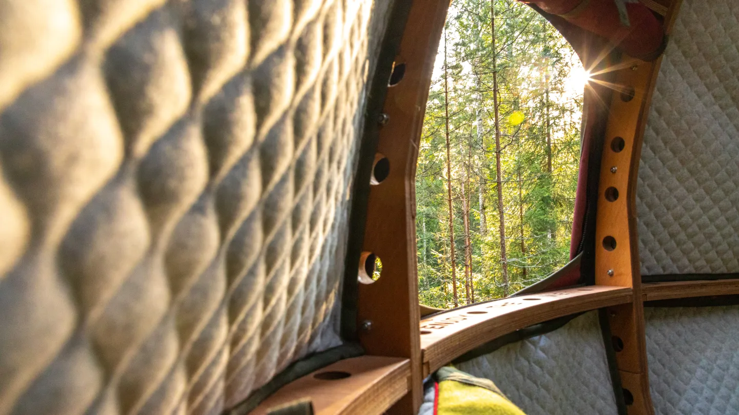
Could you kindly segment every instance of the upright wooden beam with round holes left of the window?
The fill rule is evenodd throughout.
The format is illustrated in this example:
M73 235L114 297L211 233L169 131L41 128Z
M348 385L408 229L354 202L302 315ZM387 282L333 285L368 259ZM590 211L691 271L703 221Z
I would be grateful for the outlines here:
M403 78L389 87L377 152L389 162L389 175L372 185L367 202L363 251L382 261L380 278L360 284L359 334L369 354L406 357L412 368L410 394L392 414L415 414L423 399L418 333L418 264L415 230L415 171L426 99L449 0L415 0L409 10L395 65Z

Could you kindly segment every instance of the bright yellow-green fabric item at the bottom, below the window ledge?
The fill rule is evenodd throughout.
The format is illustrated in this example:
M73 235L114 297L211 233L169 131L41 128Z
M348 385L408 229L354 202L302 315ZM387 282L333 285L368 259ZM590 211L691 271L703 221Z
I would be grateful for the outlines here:
M439 383L437 415L525 415L491 380L450 366L436 372Z

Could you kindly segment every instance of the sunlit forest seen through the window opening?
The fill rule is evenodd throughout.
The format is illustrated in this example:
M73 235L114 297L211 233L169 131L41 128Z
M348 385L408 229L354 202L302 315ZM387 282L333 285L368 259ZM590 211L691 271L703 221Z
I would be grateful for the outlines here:
M501 298L569 260L588 76L515 0L455 0L418 157L420 301Z

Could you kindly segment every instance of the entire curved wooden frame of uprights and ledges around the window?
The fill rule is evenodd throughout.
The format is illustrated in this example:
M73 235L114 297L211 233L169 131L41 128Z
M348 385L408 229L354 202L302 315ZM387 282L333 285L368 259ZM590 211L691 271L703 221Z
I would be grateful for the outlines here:
M669 32L680 0L641 0L664 16ZM621 383L633 395L629 414L653 414L647 377L643 302L672 298L739 294L739 280L641 284L636 233L636 180L641 139L661 59L624 61L610 69L616 85L606 123L596 216L595 286L520 295L449 310L418 324L415 253L415 167L435 51L449 0L414 0L396 64L406 64L403 80L388 90L378 154L390 174L373 183L364 252L383 262L382 276L360 284L360 341L369 354L341 360L282 388L256 414L287 402L312 399L316 414L415 414L423 377L467 351L517 329L547 320L607 308L613 335L624 342L616 354ZM633 92L630 88L633 88ZM624 92L622 95L621 92ZM402 122L398 122L402 120ZM624 148L613 151L614 137ZM605 197L607 188L621 197ZM613 199L612 197L609 199ZM398 237L400 232L404 237ZM616 239L611 249L606 236ZM380 357L386 356L386 357ZM315 377L327 371L352 376Z

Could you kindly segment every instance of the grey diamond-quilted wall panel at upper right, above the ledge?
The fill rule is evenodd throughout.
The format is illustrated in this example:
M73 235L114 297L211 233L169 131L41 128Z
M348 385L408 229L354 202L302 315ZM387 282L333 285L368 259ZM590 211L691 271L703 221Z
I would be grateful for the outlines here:
M685 0L638 172L642 275L739 272L739 2Z

